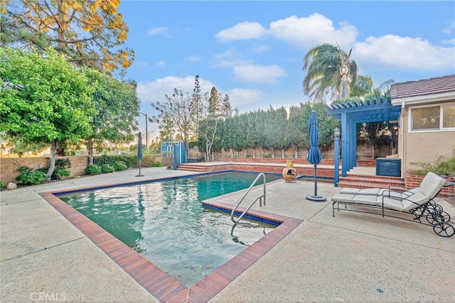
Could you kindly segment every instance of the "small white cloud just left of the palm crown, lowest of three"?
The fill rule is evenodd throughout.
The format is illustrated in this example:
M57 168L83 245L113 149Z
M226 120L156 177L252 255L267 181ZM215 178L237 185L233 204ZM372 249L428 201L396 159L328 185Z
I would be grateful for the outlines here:
M285 70L278 65L237 65L234 67L235 77L247 82L273 84L277 78L287 76Z

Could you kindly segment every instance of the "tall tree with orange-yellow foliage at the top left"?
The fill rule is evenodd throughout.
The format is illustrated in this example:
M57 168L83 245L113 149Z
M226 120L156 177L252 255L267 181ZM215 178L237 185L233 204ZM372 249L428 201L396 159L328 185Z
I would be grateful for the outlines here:
M6 0L2 45L52 47L78 66L121 73L134 51L122 48L128 27L119 0Z

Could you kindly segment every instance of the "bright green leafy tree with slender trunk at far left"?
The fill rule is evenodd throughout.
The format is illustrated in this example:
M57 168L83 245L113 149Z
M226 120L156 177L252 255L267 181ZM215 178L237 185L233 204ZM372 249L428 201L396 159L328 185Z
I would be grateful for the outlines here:
M55 167L58 143L78 142L92 135L96 113L94 89L82 70L50 49L35 51L0 48L0 132L24 142L50 144L50 167Z

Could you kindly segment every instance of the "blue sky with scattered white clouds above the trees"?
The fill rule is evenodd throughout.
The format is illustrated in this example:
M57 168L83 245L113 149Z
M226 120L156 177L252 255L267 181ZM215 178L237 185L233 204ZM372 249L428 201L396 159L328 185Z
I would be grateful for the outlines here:
M215 87L247 113L313 101L304 94L304 56L339 45L375 87L455 73L455 1L138 1L121 0L135 53L127 79L141 100L139 131L151 102L174 89ZM147 124L149 141L159 136Z

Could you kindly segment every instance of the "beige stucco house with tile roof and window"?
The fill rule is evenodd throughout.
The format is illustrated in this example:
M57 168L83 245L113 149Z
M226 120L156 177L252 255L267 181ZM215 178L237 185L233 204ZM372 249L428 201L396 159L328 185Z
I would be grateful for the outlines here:
M400 106L398 156L402 177L415 162L433 162L455 150L455 75L395 83L392 106Z

